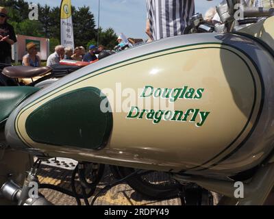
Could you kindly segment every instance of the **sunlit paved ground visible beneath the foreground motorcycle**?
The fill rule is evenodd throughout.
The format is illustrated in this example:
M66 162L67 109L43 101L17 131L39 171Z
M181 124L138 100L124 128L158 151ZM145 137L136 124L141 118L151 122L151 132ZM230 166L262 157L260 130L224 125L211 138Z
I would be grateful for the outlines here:
M72 170L64 170L62 168L43 164L38 172L38 179L40 183L51 183L71 190L71 173ZM99 183L97 191L112 181L114 181L114 179L107 168L101 183ZM80 190L79 186L77 186L77 190ZM55 205L77 205L75 198L60 192L43 189L41 190L41 193ZM91 199L92 198L89 200L90 202ZM167 201L152 201L132 190L126 183L121 183L112 188L112 190L108 191L105 195L99 196L95 205L181 205L181 202L179 198Z

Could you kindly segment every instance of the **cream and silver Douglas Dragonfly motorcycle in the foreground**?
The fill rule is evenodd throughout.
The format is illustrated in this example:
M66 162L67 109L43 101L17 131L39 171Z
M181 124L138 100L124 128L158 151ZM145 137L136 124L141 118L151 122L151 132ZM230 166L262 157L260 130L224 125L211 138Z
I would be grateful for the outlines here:
M222 34L177 36L127 49L41 90L2 87L2 196L20 205L48 204L42 196L29 198L28 185L37 181L42 160L68 157L79 161L72 185L78 174L82 194L75 186L44 188L86 204L99 182L99 166L109 164L132 172L103 188L91 204L117 183L156 170L181 185L222 194L223 204L262 205L274 185L274 16L273 10L245 8L249 18L268 18L232 32L236 3L227 0L219 10ZM110 92L117 92L117 82L136 94L130 103L121 95L129 104L122 112ZM171 107L142 104L146 100ZM38 157L34 164L28 155ZM86 162L97 164L89 182ZM23 179L25 168L30 170ZM236 196L238 185L242 194ZM182 186L178 193L184 203L188 192Z

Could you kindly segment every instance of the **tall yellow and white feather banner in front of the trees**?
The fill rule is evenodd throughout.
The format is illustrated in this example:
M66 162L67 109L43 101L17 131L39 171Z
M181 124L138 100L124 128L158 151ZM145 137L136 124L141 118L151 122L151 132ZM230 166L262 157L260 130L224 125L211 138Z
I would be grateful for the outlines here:
M61 3L61 44L64 47L74 48L73 17L71 13L71 0L62 0Z

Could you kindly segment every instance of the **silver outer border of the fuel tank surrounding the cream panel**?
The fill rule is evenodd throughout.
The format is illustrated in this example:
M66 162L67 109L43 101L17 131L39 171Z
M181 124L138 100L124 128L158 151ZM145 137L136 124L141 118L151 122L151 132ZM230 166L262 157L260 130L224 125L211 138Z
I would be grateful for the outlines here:
M90 153L90 151L80 151L77 149L66 150L56 148L51 152L47 151L46 155L55 156L58 155L58 151L62 151L63 153L66 153L68 157L73 157L74 159L83 159L83 157L86 157L84 159L87 161L92 160L92 162L173 172L184 170L190 173L195 172L197 175L223 175L224 177L235 175L237 172L257 166L273 149L273 141L270 138L273 136L273 129L269 123L269 121L273 120L273 116L271 116L270 112L273 112L274 110L274 105L271 101L274 98L271 88L274 83L274 77L270 74L271 71L273 72L274 66L269 64L269 62L273 62L273 57L260 44L258 44L258 42L254 42L244 36L237 36L236 34L192 34L188 36L177 36L174 38L152 42L151 44L142 45L134 49L129 49L116 55L111 55L100 62L92 64L92 66L86 66L85 68L77 70L77 72L60 79L53 85L40 90L27 99L27 101L19 105L19 107L14 110L10 116L6 125L6 138L10 144L17 146L18 148L28 149L28 147L23 144L21 139L18 138L16 130L14 129L14 121L16 120L18 112L20 112L26 105L38 99L39 96L47 95L47 93L52 90L57 90L65 83L75 81L79 79L79 77L87 75L86 73L99 70L106 65L110 66L121 62L121 60L129 60L133 57L140 57L151 52L164 51L171 48L192 44L219 44L221 47L222 45L226 45L227 47L238 49L239 53L245 53L245 55L248 55L249 60L253 62L253 64L258 68L258 71L262 74L260 77L262 77L262 86L264 86L265 90L265 93L262 94L264 105L261 109L262 114L259 116L260 120L257 121L258 124L256 124L256 127L254 127L255 130L253 130L253 133L256 134L249 136L244 145L235 149L236 151L234 150L234 152L237 153L232 153L228 157L227 154L218 155L212 158L209 162L199 164L191 170L184 170L179 168L179 166L172 166L168 164L157 164L157 159L153 162L145 159L125 159L125 157L121 159L119 158L119 151L117 151L116 157L109 157L106 154L102 154L101 151L92 151L92 153ZM260 59L260 57L264 57L264 59ZM108 146L106 146L106 149L108 149ZM77 154L80 156L77 156Z

